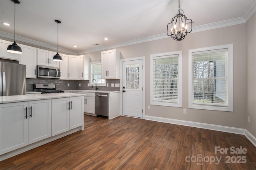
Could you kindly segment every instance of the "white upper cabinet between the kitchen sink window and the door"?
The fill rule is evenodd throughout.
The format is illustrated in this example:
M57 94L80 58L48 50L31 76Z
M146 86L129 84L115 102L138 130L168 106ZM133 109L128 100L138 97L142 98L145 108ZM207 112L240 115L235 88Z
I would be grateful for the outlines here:
M102 79L120 79L120 51L116 49L101 52Z

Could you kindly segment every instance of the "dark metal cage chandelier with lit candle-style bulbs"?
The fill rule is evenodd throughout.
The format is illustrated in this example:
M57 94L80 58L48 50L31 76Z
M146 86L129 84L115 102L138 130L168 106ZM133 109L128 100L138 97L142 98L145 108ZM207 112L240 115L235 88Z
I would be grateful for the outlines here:
M172 18L172 22L170 22L170 30L168 32L167 24L167 35L171 36L176 41L181 41L185 38L185 36L192 31L192 20L188 19L185 15L183 15L184 11L180 10L180 0L179 0L179 13L176 14L174 18ZM191 30L188 32L188 24ZM169 26L169 27L170 27ZM169 34L171 33L171 34Z

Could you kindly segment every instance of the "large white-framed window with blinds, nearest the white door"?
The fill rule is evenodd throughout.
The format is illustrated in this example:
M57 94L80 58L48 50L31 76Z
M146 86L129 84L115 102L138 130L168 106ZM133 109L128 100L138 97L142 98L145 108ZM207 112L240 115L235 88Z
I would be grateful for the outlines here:
M179 57L178 53L152 57L152 105L181 105Z

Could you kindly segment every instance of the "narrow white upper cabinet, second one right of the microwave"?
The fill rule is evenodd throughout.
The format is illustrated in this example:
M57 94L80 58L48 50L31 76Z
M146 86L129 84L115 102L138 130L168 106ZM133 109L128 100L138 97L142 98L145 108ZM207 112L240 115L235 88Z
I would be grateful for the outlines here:
M78 56L68 55L68 79L78 80Z

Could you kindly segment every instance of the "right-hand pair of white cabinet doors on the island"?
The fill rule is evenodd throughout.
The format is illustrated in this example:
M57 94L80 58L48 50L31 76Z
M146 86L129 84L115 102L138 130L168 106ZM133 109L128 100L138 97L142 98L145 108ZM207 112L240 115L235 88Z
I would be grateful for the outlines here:
M84 123L83 96L52 99L52 136Z

